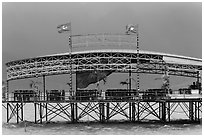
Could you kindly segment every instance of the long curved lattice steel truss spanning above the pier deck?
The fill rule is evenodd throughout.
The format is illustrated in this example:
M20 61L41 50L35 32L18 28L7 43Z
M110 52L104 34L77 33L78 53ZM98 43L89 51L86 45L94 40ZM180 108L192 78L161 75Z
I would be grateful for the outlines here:
M111 70L114 72L164 74L167 66L169 75L197 77L201 65L169 63L163 55L139 54L139 68L137 68L136 53L126 52L74 52L72 57L72 71ZM7 65L7 80L40 77L47 75L69 74L69 54L53 55L12 61Z

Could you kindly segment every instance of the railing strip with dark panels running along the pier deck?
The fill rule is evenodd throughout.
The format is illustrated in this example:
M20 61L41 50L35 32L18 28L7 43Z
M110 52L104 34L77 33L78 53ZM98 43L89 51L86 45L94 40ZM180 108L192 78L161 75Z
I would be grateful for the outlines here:
M137 91L135 89L108 89L107 91L97 90L77 90L73 96L65 90L51 90L43 92L13 92L9 99L3 98L2 101L15 102L63 102L63 101L129 101L129 100L161 100L161 99L181 99L181 98L202 98L202 95L190 92L171 91L167 94L165 91Z

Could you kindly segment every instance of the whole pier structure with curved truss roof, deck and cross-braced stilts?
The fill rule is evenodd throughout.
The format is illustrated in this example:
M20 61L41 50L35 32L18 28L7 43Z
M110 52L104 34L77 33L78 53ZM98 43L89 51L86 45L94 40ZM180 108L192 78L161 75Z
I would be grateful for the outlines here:
M73 47L99 43L104 47L113 43L135 46L137 42L135 35L126 34L72 36ZM27 104L32 105L29 109L34 110L34 123L52 122L56 117L71 123L86 122L84 118L87 116L90 121L101 123L111 122L114 116L129 122L145 122L153 118L168 123L176 120L172 118L175 113L182 113L184 119L190 122L202 119L201 59L130 49L84 49L11 61L6 66L6 93L2 105L8 123L11 119L15 119L16 123L24 121ZM112 73L129 74L128 81L123 82L127 89L84 89L89 84L98 87L98 83ZM134 73L137 74L136 89L131 86ZM141 73L189 77L196 82L192 89L178 89L176 92L171 91L168 81L165 87L142 91L139 89ZM46 89L47 76L64 74L69 75L69 91ZM73 76L76 77L76 85L72 84ZM89 76L94 79L90 81ZM43 90L37 86L10 90L10 81L28 78L42 78Z

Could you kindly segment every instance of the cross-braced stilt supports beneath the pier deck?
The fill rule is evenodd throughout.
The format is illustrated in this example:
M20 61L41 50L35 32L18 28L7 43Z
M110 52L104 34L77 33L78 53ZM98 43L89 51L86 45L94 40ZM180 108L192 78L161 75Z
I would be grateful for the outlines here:
M64 121L76 123L86 116L90 121L109 122L112 117L119 115L126 121L143 122L148 116L154 120L168 123L175 121L171 116L180 112L187 121L200 122L202 119L202 100L200 98L188 99L160 99L160 100L89 100L89 101L5 101L7 122L12 118L16 123L24 121L24 106L32 104L35 123L51 122L55 117ZM181 111L182 110L182 111ZM87 122L87 121L85 121Z

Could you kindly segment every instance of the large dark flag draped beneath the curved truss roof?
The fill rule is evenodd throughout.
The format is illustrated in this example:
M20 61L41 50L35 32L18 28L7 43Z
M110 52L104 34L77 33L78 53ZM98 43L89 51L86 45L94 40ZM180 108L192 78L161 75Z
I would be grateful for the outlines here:
M77 87L86 88L90 84L106 79L112 71L85 71L77 73Z

